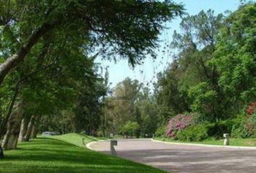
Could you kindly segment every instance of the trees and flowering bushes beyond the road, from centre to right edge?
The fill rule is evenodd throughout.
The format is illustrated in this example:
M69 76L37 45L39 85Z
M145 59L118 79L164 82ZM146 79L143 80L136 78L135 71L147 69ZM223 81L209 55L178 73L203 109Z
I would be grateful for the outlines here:
M104 130L98 130L98 136L222 143L218 140L229 133L236 144L247 145L239 138L253 141L255 23L255 3L226 14L208 10L184 17L170 45L176 54L168 68L154 76L153 92L129 78L117 84L105 99Z

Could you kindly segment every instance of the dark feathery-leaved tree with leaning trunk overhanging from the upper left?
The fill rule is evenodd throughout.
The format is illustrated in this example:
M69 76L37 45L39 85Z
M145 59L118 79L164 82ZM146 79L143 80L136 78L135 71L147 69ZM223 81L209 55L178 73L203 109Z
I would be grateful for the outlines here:
M41 37L59 32L82 37L88 48L102 47L106 56L139 63L153 54L163 22L182 14L182 6L169 1L1 1L1 6L1 29L15 46L0 65L0 84Z

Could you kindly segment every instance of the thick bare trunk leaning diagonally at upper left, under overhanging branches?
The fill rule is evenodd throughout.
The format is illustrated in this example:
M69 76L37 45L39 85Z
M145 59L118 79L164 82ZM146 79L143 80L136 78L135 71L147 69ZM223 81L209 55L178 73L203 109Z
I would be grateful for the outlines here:
M17 64L19 64L27 56L27 53L30 52L30 49L38 42L40 37L45 35L53 28L54 25L44 24L38 28L38 30L33 31L30 37L28 37L27 42L21 46L20 50L17 50L17 53L9 56L4 63L0 64L0 85L4 81L4 77L7 76L9 71L11 71L12 68L17 66Z

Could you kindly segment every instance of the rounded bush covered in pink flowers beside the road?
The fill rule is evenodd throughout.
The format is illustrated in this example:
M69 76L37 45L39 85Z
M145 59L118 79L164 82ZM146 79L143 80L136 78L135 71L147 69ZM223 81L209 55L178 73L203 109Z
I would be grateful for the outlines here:
M168 121L168 127L166 130L166 136L170 138L176 138L177 132L184 128L194 124L195 115L176 115Z

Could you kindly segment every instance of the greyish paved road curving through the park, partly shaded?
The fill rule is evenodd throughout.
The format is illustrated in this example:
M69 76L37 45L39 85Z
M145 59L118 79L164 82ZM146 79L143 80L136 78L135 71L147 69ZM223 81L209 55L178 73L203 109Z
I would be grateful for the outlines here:
M109 141L90 145L110 154ZM255 173L256 149L216 148L157 143L150 139L119 140L118 156L174 173Z

